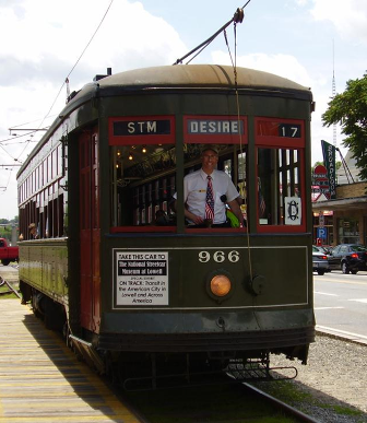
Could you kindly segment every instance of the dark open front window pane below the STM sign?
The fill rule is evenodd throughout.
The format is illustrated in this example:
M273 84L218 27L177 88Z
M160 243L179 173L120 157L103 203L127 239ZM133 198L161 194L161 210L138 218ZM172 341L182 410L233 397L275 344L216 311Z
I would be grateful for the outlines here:
M118 145L110 155L113 227L174 225L175 145Z

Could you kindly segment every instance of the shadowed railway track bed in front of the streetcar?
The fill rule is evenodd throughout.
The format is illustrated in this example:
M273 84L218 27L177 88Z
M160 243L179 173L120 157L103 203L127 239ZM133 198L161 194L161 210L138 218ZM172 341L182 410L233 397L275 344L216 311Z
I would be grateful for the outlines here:
M187 388L126 393L146 423L240 423L320 421L247 383L225 383Z

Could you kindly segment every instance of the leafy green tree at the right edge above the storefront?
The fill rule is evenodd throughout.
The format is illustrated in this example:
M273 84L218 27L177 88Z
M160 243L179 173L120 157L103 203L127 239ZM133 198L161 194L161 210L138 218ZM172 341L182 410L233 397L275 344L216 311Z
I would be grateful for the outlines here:
M322 115L324 126L341 124L347 146L359 168L359 177L367 180L367 73L350 80L344 93L336 94Z

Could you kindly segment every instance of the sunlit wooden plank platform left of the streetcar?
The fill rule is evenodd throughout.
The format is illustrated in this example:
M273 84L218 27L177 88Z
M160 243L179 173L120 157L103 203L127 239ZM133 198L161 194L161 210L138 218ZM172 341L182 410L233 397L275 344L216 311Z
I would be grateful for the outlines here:
M98 376L19 299L0 299L0 423L135 423Z

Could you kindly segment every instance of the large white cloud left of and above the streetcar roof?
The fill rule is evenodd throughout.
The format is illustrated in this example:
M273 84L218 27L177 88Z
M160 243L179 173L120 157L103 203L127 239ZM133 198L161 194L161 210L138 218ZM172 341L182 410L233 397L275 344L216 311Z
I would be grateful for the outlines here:
M141 2L128 0L0 0L0 142L12 138L8 128L24 122L38 128L79 59L69 78L71 91L107 68L117 73L171 64L188 51L170 24L149 13ZM66 97L63 87L51 115L62 109ZM40 134L34 138L39 140ZM5 149L0 149L0 163L11 163L12 157L24 161L35 145L27 144L27 139L0 143ZM16 168L0 172L0 187L8 187L0 190L1 218L16 214L15 173Z

